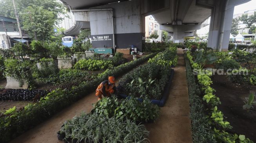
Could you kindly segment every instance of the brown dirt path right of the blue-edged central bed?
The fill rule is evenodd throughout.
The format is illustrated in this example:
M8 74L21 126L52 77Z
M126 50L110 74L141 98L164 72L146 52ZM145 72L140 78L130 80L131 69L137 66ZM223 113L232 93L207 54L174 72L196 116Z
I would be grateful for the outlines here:
M182 54L182 49L178 49L178 55ZM170 95L159 119L146 124L151 143L192 143L184 57L179 57L174 72Z

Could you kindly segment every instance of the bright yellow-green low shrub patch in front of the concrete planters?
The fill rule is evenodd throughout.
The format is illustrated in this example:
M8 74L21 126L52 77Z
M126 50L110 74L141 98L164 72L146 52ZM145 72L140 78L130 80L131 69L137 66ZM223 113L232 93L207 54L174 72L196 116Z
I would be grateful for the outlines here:
M93 60L93 59L81 59L75 65L74 68L80 70L105 70L107 68L113 68L111 61Z

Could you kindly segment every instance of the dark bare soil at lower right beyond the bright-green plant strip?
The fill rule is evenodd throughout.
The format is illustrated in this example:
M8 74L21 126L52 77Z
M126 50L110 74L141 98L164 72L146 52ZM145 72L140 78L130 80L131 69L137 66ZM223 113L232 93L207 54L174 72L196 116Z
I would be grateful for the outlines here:
M236 88L236 86L229 85L225 82L220 82L215 75L213 78L213 88L216 89L216 96L222 102L218 105L226 120L230 122L232 129L228 131L236 134L244 134L246 138L250 138L256 142L256 109L251 109L249 113L243 110L245 97L248 97L250 92L255 92L247 88Z

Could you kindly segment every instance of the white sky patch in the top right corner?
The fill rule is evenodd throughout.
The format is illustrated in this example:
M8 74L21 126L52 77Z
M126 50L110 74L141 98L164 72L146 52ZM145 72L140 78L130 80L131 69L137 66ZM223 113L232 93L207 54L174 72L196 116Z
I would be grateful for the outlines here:
M234 14L239 14L254 9L256 9L256 0L251 0L247 3L235 6Z

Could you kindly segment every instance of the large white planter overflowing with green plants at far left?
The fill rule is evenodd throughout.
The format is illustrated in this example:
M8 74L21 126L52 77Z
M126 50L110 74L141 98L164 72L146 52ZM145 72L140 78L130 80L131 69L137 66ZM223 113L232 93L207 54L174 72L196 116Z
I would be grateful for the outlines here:
M35 85L30 72L31 64L29 61L18 61L17 59L7 59L4 61L5 77L7 84L5 88L27 89Z

